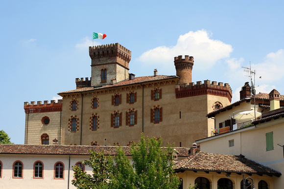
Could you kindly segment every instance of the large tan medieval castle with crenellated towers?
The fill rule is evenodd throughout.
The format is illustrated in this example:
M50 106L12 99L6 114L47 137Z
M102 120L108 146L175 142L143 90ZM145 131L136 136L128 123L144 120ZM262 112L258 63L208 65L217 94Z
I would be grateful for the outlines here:
M229 84L192 83L193 57L174 57L176 75L135 77L131 51L122 45L89 47L91 78L76 78L76 89L59 92L58 103L25 102L24 144L129 146L145 136L164 145L190 147L208 137L214 120L206 115L230 105Z

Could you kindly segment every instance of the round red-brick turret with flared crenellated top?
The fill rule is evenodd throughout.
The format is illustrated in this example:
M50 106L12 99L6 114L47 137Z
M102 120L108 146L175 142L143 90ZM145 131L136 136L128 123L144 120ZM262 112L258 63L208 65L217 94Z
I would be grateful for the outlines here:
M189 57L188 55L185 56L185 59L182 59L182 56L174 58L176 75L180 77L178 84L191 83L191 71L193 62L193 57Z

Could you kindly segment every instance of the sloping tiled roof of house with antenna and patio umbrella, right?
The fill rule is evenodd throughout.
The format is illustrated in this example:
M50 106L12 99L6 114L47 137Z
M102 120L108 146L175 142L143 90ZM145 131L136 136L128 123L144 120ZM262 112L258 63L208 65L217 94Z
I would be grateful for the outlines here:
M240 104L240 103L242 103L244 101L251 100L251 99L254 99L254 98L269 100L269 94L268 93L259 93L259 94L256 94L255 96L248 96L248 97L246 97L244 99L241 99L241 100L239 100L239 101L237 101L235 103L232 103L231 105L227 105L227 106L224 106L224 107L222 107L220 109L217 109L217 110L215 110L213 112L210 112L206 116L208 118L214 117L215 114L220 113L220 112L226 110L227 108L230 108L230 107L232 107L234 105ZM280 101L284 101L284 95L280 95Z

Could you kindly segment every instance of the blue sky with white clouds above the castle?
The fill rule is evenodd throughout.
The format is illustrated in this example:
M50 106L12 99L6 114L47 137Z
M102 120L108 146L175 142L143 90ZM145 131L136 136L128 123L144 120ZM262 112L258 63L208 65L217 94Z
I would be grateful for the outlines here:
M0 129L24 144L24 102L58 99L91 77L88 46L120 43L130 73L175 75L194 57L192 82L229 83L233 101L256 69L257 93L284 94L284 1L0 0ZM261 79L260 79L261 76Z

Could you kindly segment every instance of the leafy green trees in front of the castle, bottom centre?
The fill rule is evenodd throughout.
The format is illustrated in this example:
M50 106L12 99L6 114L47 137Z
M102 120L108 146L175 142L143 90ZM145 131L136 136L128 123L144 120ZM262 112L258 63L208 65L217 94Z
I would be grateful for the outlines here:
M132 165L121 147L114 161L103 152L91 151L90 160L82 163L93 168L93 174L75 166L72 184L78 189L177 189L180 181L172 168L173 148L161 145L161 139L145 140L142 134L141 140L130 147Z

